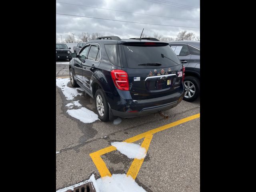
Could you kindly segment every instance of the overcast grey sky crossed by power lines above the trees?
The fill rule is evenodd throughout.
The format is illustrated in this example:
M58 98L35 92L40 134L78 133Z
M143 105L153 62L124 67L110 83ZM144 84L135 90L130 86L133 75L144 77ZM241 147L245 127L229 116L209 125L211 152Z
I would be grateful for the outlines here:
M69 4L63 4L60 2ZM71 4L85 6L75 6ZM158 16L140 15L127 12ZM200 36L200 21L198 21L200 20L200 0L56 0L56 13L130 22L195 27L184 28L135 24L56 14L56 38L58 39L58 42L61 42L60 35L62 35L62 40L64 41L64 39L72 33L75 33L74 36L78 39L79 34L82 32L89 32L90 34L98 32L102 35L114 35L119 36L120 38L139 37L143 28L143 34L152 37L154 36L154 33L158 33L159 35L166 37L176 38L178 32L181 30L194 32L196 36Z

